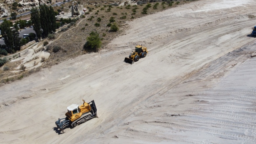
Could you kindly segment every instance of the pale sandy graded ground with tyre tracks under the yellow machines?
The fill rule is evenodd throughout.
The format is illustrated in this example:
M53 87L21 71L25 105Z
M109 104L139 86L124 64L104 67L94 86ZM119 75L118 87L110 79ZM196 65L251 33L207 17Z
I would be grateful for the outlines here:
M256 0L202 0L128 22L108 49L0 87L0 143L254 144ZM124 63L136 44L149 53ZM71 104L99 118L61 134Z

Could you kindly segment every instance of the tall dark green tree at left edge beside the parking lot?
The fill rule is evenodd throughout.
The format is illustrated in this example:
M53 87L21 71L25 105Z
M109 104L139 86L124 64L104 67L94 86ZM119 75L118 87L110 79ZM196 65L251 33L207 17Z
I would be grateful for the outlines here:
M1 27L1 34L4 37L4 41L6 44L6 51L8 53L14 53L15 51L20 50L20 37L17 33L17 29L10 29L12 27L12 22L7 21L4 19L4 21L0 25Z

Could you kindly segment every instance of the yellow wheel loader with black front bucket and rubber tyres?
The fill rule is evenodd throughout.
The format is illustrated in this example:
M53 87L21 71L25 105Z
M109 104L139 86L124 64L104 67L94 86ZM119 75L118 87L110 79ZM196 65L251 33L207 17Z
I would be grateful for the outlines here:
M129 55L129 58L124 58L124 62L133 64L134 62L137 62L140 58L145 57L147 55L147 47L142 47L142 45L137 45L135 47L135 51L132 51L132 53Z

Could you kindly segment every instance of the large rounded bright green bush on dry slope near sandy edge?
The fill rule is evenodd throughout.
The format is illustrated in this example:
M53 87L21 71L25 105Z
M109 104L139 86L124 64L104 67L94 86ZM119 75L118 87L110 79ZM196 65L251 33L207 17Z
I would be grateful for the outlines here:
M89 52L96 52L101 47L101 38L99 34L94 31L90 33L90 36L86 38L87 42L84 45L84 50L87 50Z

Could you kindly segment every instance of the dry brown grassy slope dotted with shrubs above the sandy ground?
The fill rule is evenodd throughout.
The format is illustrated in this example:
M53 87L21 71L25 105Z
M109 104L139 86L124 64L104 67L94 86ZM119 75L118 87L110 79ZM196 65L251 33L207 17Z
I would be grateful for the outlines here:
M78 0L79 1L79 0ZM191 0L191 1L197 1L197 0ZM45 64L41 66L41 68L47 68L52 65L58 64L61 61L77 57L82 54L86 54L87 52L83 50L84 44L86 43L86 37L89 36L89 34L92 31L97 31L100 36L102 37L102 48L104 48L111 40L113 40L115 37L124 34L124 31L128 29L126 25L126 21L132 21L133 19L143 17L148 14L153 14L162 10L170 9L173 7L176 7L176 2L173 3L171 7L168 6L168 4L165 2L165 4L162 4L162 2L159 2L159 5L157 9L153 9L153 6L157 2L150 3L151 7L148 8L147 14L142 14L142 9L146 7L147 4L143 5L137 5L137 6L112 6L112 8L109 9L108 4L104 3L103 1L101 4L97 5L88 5L88 3L92 3L93 1L85 1L80 0L80 4L83 4L83 7L86 9L91 9L89 11L89 14L85 15L85 18L79 18L79 20L76 22L75 25L71 26L67 31L61 32L55 32L56 39L53 40L51 44L49 44L49 52L51 53L50 57L48 59L45 59ZM180 3L178 5L182 5L184 3L190 2L189 0L180 0ZM114 3L114 1L108 1L108 3ZM62 6L65 11L65 7L68 8L69 5L71 5L71 2L65 3L61 5L60 7L53 7L54 10L57 11L57 9L60 9ZM127 7L128 6L128 7ZM68 9L66 9L68 10ZM135 12L136 10L136 12ZM93 18L91 20L88 20L89 18ZM124 19L125 16L125 19ZM115 17L115 22L118 24L119 30L117 32L110 32L110 27L107 27L107 24L110 23L110 17ZM101 18L101 21L97 21L98 18ZM95 23L99 23L100 26L96 27ZM48 38L45 39L50 41ZM41 41L43 43L43 41ZM53 47L59 46L61 49L58 52L53 52ZM6 82L5 77L13 77L13 79L19 79L20 76L26 76L33 72L40 71L40 68L33 69L31 71L24 71L24 72L18 72L18 73L11 73L10 71L13 71L20 63L7 63L5 66L8 66L10 70L1 72L1 82Z

